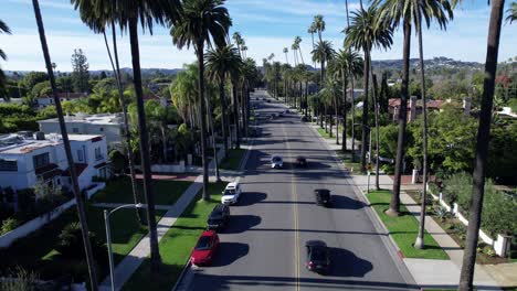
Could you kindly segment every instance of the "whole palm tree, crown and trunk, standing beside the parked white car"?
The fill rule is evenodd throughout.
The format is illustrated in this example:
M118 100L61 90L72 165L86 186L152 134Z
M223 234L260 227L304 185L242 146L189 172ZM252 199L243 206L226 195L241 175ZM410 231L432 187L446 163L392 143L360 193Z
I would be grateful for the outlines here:
M203 163L203 200L210 200L208 157L207 157L207 120L204 93L204 44L213 41L218 47L226 45L228 30L232 21L224 0L188 0L183 2L183 12L178 24L170 29L172 42L179 47L193 45L199 66L199 100L201 120L201 157ZM211 112L210 112L211 114Z

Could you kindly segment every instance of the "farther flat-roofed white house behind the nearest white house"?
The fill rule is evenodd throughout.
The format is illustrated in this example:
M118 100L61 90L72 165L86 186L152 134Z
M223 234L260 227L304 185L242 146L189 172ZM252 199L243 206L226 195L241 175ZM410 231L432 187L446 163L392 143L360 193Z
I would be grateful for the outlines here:
M123 140L123 115L84 115L66 116L66 130L72 134L103 134L110 148L120 148ZM57 118L38 121L40 131L45 133L61 132Z

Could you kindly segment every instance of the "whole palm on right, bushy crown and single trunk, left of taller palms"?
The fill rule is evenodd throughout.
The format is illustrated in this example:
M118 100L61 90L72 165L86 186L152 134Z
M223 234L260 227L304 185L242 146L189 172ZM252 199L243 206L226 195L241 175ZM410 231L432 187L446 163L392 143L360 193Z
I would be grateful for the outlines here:
M370 79L370 52L373 47L387 48L393 43L393 31L382 25L378 19L378 8L372 4L367 10L352 12L352 24L345 32L345 45L365 53L365 101L362 104L362 136L361 136L361 172L366 170L366 150L368 142L368 87ZM352 93L354 95L354 93ZM352 129L354 130L354 129ZM354 153L352 153L354 154Z

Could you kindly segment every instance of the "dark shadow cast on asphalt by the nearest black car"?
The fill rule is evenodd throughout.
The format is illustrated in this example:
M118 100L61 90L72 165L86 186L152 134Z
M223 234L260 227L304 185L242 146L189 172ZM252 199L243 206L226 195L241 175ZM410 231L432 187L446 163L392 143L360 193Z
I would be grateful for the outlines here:
M336 277L359 277L373 270L373 265L357 257L354 252L342 248L329 248L333 260L333 269L329 276Z

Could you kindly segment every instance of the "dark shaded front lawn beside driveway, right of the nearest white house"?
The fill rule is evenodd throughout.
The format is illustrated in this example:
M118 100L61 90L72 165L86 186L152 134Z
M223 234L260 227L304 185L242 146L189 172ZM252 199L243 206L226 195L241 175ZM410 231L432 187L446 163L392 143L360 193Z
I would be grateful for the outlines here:
M152 190L155 194L155 204L170 205L183 194L192 184L189 181L163 181L152 180ZM140 201L144 201L143 183L138 180L138 192ZM117 179L109 182L106 187L92 197L94 203L134 203L131 182L128 177Z

